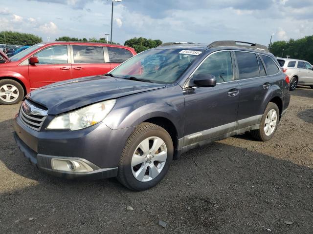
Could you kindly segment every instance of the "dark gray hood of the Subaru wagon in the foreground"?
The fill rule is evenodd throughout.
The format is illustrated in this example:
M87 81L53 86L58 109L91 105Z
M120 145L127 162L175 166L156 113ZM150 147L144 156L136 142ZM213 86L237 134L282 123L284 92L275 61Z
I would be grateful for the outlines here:
M98 101L120 98L165 86L165 84L123 78L94 76L50 84L30 92L26 98L47 108L49 115L58 115Z

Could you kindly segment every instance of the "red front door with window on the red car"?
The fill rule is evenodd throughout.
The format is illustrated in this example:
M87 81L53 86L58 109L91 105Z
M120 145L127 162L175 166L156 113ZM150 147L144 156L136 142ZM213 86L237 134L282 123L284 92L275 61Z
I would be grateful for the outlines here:
M67 51L67 45L55 45L34 54L39 63L28 65L31 89L72 78Z

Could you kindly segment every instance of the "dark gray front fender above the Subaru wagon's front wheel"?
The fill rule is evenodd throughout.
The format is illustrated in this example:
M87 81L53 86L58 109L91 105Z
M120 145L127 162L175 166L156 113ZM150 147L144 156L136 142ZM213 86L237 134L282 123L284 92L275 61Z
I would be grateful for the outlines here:
M179 85L118 98L103 122L111 129L138 126L153 117L170 120L183 136L184 96Z

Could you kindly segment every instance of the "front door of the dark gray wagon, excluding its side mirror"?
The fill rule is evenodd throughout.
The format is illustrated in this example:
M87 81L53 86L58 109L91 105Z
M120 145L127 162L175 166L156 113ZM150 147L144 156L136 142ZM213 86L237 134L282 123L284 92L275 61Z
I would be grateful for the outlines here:
M230 51L215 52L192 75L214 75L217 85L184 90L185 145L235 130L240 87L234 79L233 64Z

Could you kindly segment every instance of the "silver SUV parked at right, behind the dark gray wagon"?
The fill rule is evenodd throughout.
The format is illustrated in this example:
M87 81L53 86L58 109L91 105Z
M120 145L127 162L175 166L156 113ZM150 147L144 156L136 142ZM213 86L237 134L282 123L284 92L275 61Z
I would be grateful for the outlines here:
M304 60L277 58L284 73L290 77L290 90L295 90L297 85L313 88L313 67Z

